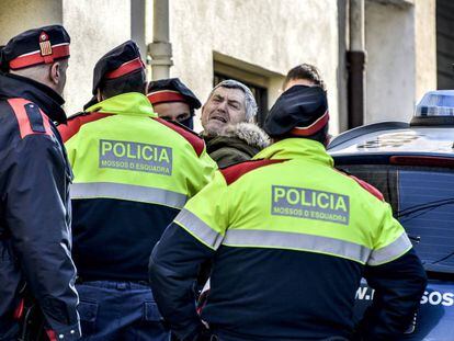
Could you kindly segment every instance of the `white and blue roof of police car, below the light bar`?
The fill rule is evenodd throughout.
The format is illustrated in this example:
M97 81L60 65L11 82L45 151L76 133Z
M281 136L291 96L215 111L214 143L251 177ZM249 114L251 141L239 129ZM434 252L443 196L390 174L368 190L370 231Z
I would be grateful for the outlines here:
M410 126L382 122L348 130L331 140L331 156L430 155L454 159L454 126Z

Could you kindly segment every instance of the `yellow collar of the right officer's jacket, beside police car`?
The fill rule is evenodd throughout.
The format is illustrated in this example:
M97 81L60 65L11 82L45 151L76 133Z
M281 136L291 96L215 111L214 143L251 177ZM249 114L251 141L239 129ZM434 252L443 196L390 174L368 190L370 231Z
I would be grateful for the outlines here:
M324 145L307 138L285 138L263 149L253 159L307 159L329 167L334 166Z

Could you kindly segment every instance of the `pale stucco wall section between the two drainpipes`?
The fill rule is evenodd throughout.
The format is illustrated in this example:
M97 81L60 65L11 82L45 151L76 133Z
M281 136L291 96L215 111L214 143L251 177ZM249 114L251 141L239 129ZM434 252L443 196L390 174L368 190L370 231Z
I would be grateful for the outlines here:
M172 0L170 13L171 76L182 78L202 102L213 86L214 50L281 75L310 62L328 84L331 130L338 132L336 1Z

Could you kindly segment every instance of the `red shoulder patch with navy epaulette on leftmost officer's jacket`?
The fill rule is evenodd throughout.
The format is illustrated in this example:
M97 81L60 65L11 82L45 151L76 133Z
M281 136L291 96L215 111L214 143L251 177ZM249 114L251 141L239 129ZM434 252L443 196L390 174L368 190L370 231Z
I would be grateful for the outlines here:
M18 120L21 138L34 134L53 135L49 118L37 104L25 99L9 99L8 103Z

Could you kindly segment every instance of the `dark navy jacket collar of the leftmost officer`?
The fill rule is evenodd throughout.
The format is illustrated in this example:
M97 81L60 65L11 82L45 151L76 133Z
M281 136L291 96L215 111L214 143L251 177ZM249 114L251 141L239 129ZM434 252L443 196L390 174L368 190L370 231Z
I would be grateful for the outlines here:
M37 104L54 122L66 123L65 100L57 92L30 78L0 72L0 99L15 98Z

